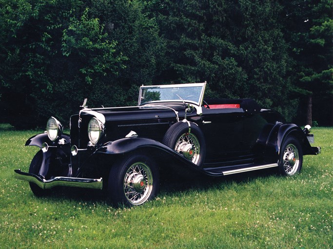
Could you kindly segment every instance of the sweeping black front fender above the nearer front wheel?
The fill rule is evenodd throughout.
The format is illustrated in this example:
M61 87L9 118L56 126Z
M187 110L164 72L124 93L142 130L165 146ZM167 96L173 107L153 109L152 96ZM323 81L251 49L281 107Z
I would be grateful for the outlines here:
M191 170L191 172L203 172L200 167L181 156L175 150L161 142L147 138L123 138L117 141L108 142L98 148L94 154L126 155L129 153L146 153L148 156L154 158L161 166L163 166L162 164L166 164L168 167L181 165L183 166L180 167L181 169L187 168L188 170ZM176 167L176 169L179 171L179 168Z

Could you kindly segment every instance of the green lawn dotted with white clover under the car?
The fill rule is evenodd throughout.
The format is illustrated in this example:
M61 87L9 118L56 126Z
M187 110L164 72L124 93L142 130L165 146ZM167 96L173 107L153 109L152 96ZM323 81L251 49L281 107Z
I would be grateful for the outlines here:
M313 133L322 154L297 176L164 180L153 201L115 209L89 190L33 196L13 170L28 170L36 131L0 125L0 248L333 248L333 128Z

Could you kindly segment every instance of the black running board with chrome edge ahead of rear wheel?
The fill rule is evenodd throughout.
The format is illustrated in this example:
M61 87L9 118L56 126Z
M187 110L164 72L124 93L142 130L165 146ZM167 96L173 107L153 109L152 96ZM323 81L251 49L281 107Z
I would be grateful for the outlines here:
M203 169L204 173L209 176L227 176L237 173L243 173L248 171L254 171L254 170L260 170L260 169L268 169L277 167L277 163L271 163L271 164L264 164L264 165L258 165L258 164L247 164L247 165L238 165L238 166L229 166L229 167L217 167L217 168L206 168Z

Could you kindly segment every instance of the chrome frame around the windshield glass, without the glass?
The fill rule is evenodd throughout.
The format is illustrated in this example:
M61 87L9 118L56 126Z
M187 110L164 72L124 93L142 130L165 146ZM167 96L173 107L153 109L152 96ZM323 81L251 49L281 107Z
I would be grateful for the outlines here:
M145 89L176 89L176 88L190 88L190 87L201 87L200 94L197 101L188 100L188 99L181 99L181 96L178 96L178 99L171 99L171 100L154 100L154 101L145 101L142 102L144 97L144 90ZM187 84L173 84L173 85L156 85L156 86L141 86L138 98L137 106L144 106L150 104L161 104L161 103L191 103L196 106L201 106L203 102L203 96L206 88L206 82L203 83L187 83Z

